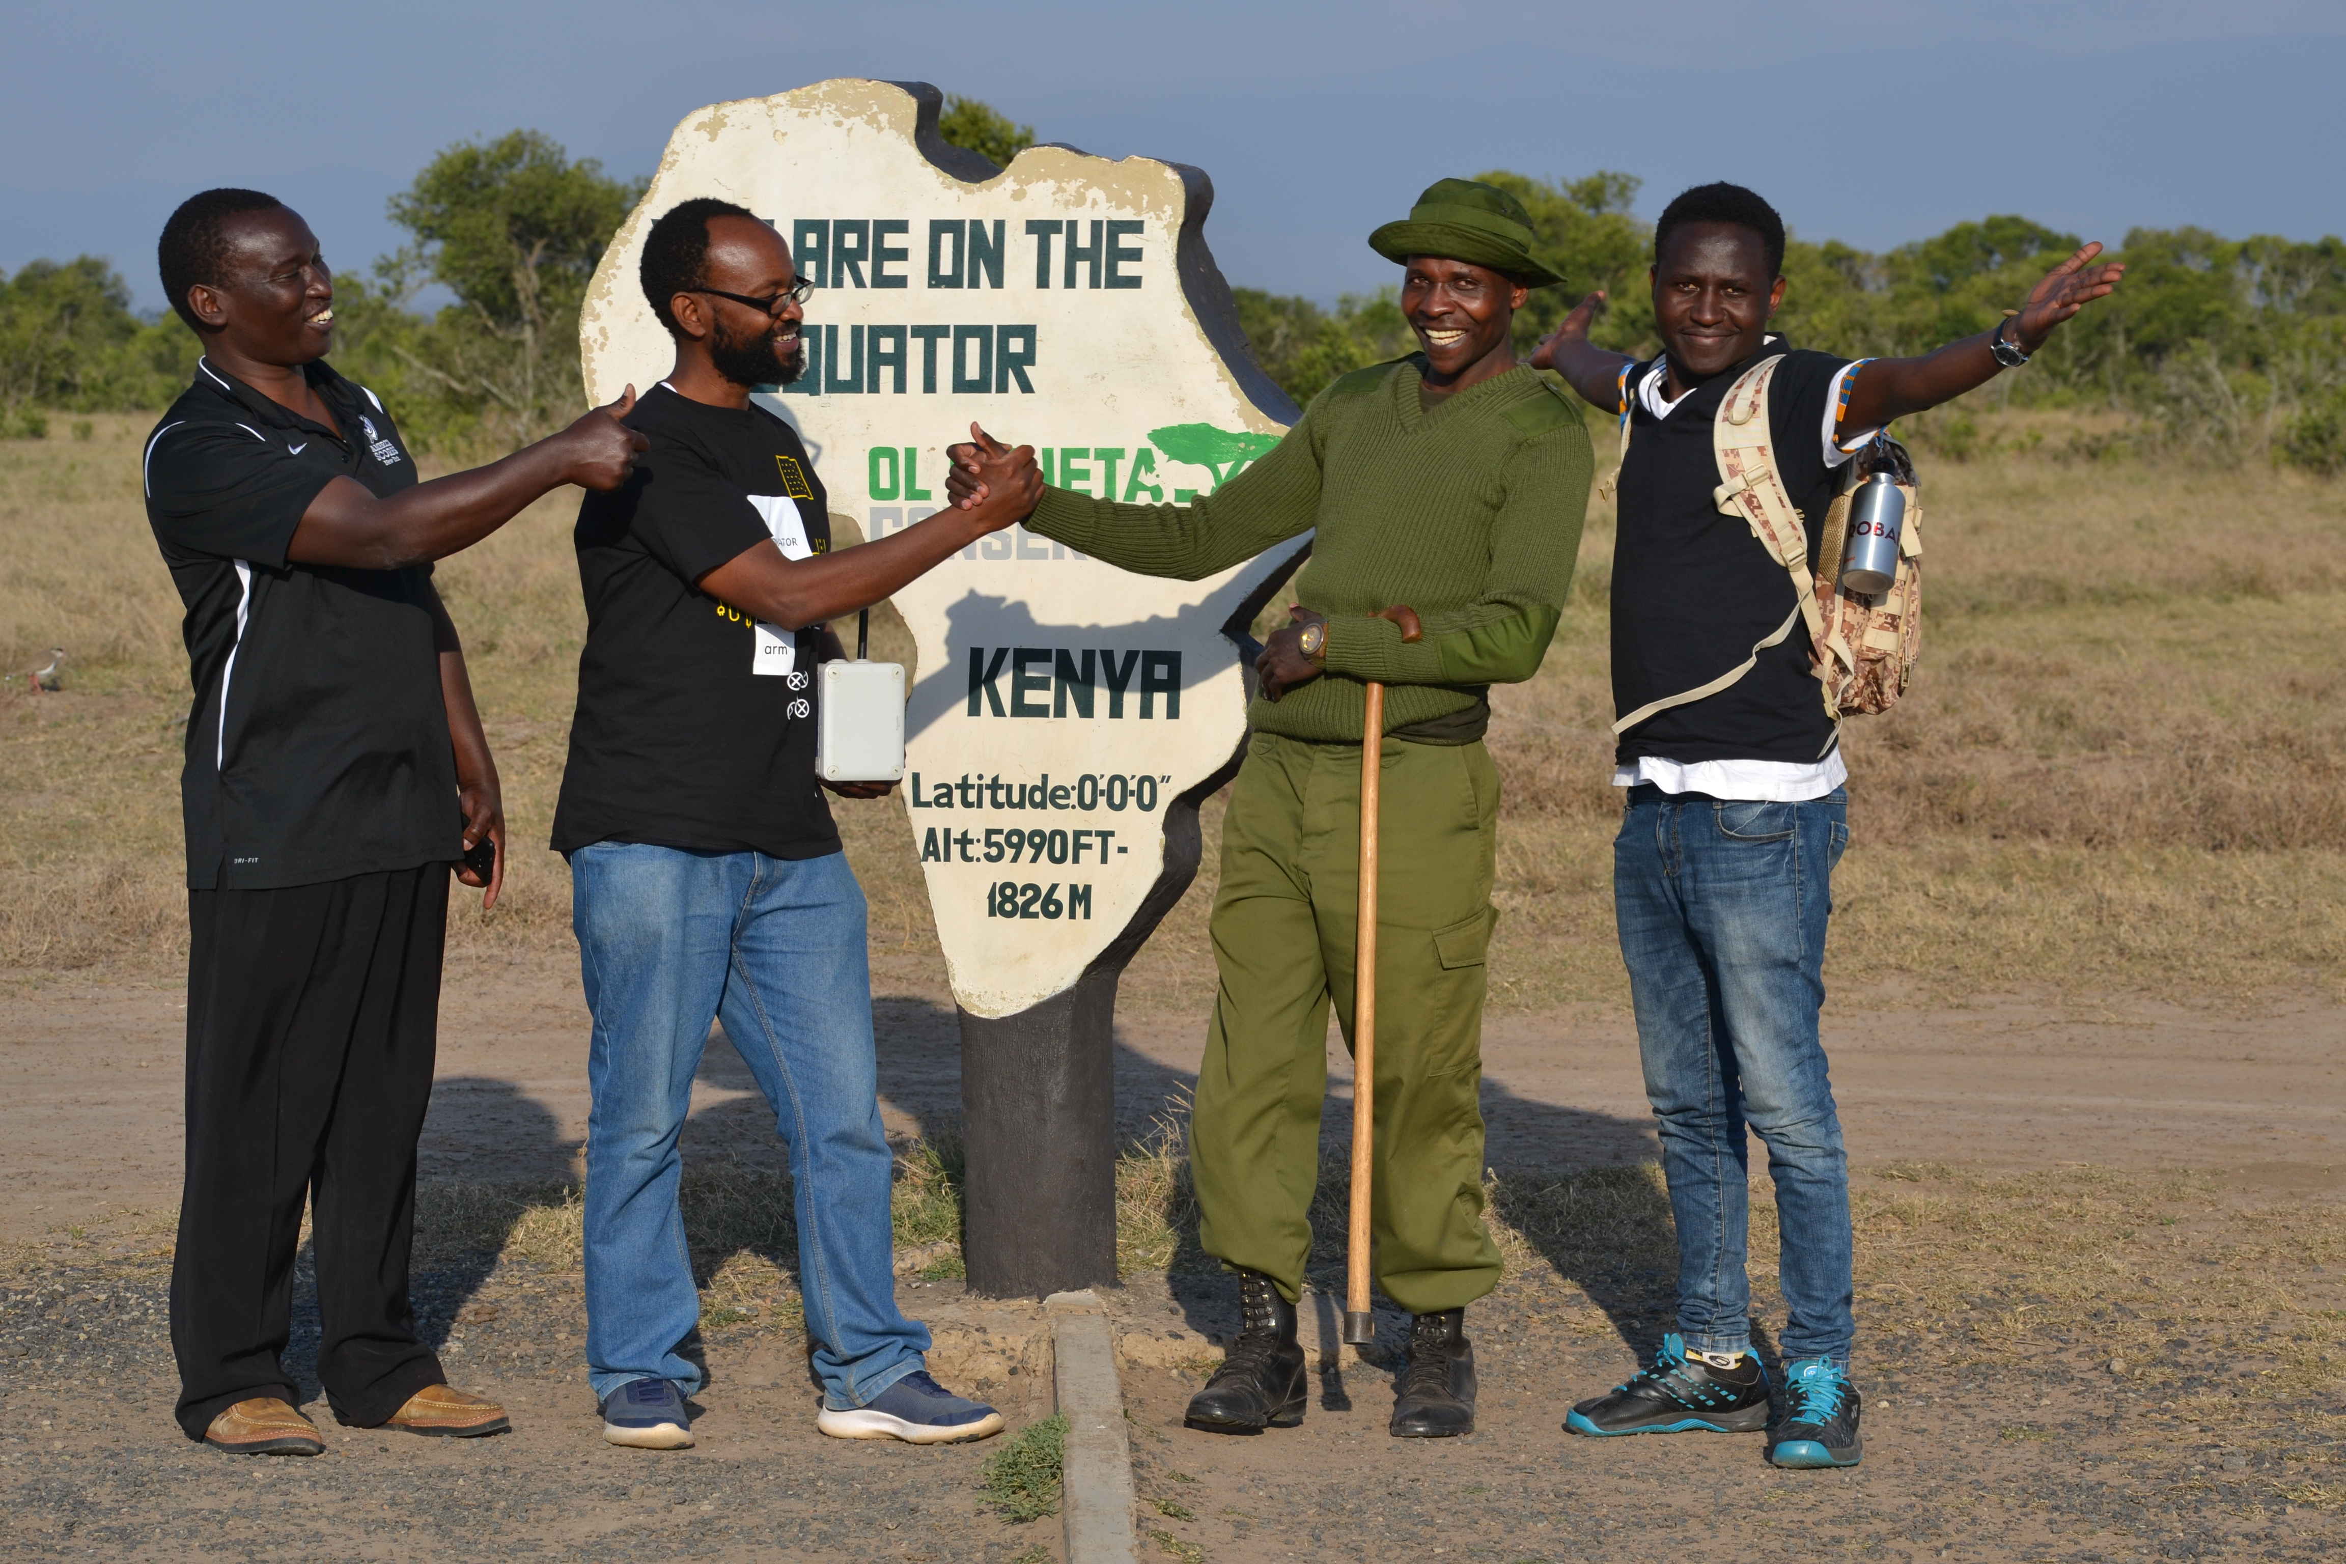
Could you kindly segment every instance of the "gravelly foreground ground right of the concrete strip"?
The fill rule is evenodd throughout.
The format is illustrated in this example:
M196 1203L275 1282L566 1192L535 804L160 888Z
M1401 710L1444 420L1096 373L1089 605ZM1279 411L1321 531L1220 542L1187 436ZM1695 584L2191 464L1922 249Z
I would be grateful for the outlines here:
M1143 1538L1192 1564L2346 1557L2346 1512L2290 1496L2346 1405L2280 1405L2257 1440L2179 1409L2271 1360L2240 1339L2175 1341L2156 1372L2114 1376L2090 1337L2036 1332L2020 1362L1985 1369L1877 1332L1858 1362L1865 1463L1846 1473L1781 1473L1760 1435L1562 1433L1574 1400L1635 1369L1626 1337L1666 1327L1663 1280L1623 1278L1609 1313L1530 1278L1471 1308L1483 1393L1464 1440L1389 1437L1391 1372L1349 1351L1300 1428L1253 1437L1182 1428L1194 1367L1128 1369ZM1220 1330L1227 1290L1175 1278L1182 1308ZM1304 1341L1333 1348L1342 1304L1311 1301ZM1401 1320L1372 1348L1386 1365Z

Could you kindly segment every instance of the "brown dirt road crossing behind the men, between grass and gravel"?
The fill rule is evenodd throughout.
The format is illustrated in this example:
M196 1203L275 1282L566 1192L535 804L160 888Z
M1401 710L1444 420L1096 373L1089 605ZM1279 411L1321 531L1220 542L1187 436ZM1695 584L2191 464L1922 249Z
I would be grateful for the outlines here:
M960 1114L950 999L920 968L875 975L891 1135ZM0 997L0 1240L178 1198L178 990L56 980ZM2346 1191L2346 1011L2262 1015L2172 1006L1825 1013L1835 1088L1858 1165L2102 1163L2208 1168L2271 1191ZM1196 1076L1203 1011L1126 1013L1117 1097L1126 1130ZM586 1123L586 1013L558 959L448 973L425 1177L575 1177ZM1494 1015L1483 1046L1490 1163L1560 1170L1652 1156L1635 1032L1619 1013ZM1349 1067L1330 1046L1337 1095ZM713 1041L690 1151L774 1158L772 1121Z

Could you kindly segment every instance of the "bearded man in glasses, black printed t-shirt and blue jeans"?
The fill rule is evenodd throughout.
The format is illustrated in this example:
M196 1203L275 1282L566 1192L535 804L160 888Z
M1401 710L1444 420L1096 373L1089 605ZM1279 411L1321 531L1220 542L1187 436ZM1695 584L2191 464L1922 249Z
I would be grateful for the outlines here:
M816 1426L978 1440L1002 1416L929 1379L929 1332L896 1308L863 891L814 776L812 668L842 654L826 621L1009 525L1039 481L833 553L807 448L751 401L805 370L788 246L739 206L683 202L652 223L640 277L676 368L626 420L650 438L633 481L579 509L586 650L554 811L594 1011L586 1369L603 1437L692 1444L678 1135L723 1018L791 1151Z

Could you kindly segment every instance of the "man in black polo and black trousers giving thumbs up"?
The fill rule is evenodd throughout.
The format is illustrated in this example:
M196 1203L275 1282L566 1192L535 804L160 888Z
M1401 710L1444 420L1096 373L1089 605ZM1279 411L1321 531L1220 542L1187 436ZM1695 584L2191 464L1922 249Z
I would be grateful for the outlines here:
M171 213L160 263L204 345L143 457L195 682L178 1423L230 1451L324 1449L282 1365L307 1201L335 1416L497 1433L504 1412L443 1383L408 1308L448 870L490 844L460 872L483 905L504 872L497 769L432 560L563 483L615 488L643 436L622 399L418 483L375 394L324 363L333 279L298 213L206 190Z

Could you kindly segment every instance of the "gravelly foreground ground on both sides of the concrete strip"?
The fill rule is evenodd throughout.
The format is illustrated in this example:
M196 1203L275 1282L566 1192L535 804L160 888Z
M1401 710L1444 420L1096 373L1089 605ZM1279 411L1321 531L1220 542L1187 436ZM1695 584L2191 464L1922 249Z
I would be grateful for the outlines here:
M2170 1266L2208 1266L2217 1233L2175 1229ZM2346 1278L2292 1278L2313 1318L2346 1318ZM1323 1285L1335 1285L1323 1276ZM983 1315L957 1285L906 1283L910 1311L995 1318L997 1348L957 1388L1023 1426L1049 1386L1021 1358L1016 1311ZM1152 1273L1117 1290L1126 1405L1143 1494L1143 1550L1182 1564L1255 1559L1490 1559L1609 1564L1713 1552L1865 1559L2330 1559L2346 1555L2332 1473L2346 1430L2334 1376L2273 1395L2259 1376L2304 1367L2306 1313L2175 1334L2111 1372L2107 1332L2140 1327L2118 1297L2097 1313L2032 1325L2001 1348L1950 1348L1863 1308L1867 1458L1853 1473L1778 1473L1762 1440L1574 1440L1567 1405L1633 1367L1630 1344L1666 1327L1668 1276L1525 1266L1469 1313L1483 1372L1466 1440L1391 1440L1391 1348L1335 1353L1337 1299L1314 1294L1304 1339L1323 1369L1302 1428L1201 1435L1180 1412L1234 1325L1211 1273ZM2050 1308L2027 1292L1996 1306ZM1762 1318L1781 1304L1762 1283ZM455 1383L497 1395L516 1433L413 1440L340 1428L328 1454L232 1458L181 1440L152 1250L75 1262L52 1252L0 1278L0 1496L9 1557L411 1557L481 1552L556 1559L990 1559L1058 1557L1058 1524L1011 1526L983 1510L990 1449L823 1440L812 1428L802 1341L791 1330L718 1332L701 1444L676 1456L601 1442L579 1376L584 1318L568 1269L453 1264L418 1276L427 1337ZM2102 1318L2107 1313L2107 1318ZM307 1276L291 1365L314 1395ZM2140 1330L2130 1339L2142 1341ZM1985 1353L1985 1358L1982 1358ZM2278 1383L2278 1381L2266 1381ZM66 1390L61 1395L61 1388ZM2255 1416L2243 1419L2243 1412ZM328 1541L331 1538L331 1541Z

